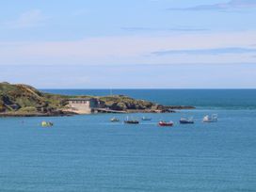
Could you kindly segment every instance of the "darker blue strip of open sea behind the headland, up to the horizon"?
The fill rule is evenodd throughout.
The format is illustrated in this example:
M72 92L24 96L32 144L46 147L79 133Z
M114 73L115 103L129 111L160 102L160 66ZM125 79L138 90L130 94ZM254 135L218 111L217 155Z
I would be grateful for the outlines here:
M158 104L198 108L256 109L256 89L44 89L68 95L122 94Z

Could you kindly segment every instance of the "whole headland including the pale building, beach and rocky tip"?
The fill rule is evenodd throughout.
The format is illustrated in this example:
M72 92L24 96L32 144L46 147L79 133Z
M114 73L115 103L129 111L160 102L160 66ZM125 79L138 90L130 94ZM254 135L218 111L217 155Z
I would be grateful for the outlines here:
M175 113L194 106L155 104L126 95L62 95L23 84L0 83L0 117L51 117L91 113Z

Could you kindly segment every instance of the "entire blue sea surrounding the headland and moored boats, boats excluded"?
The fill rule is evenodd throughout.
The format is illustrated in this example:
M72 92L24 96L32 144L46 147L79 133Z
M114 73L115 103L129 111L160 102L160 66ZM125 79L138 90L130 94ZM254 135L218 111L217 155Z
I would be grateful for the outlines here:
M0 118L0 192L254 192L256 89L43 89L193 105L169 114ZM218 121L203 123L203 116ZM110 122L113 117L120 122ZM179 124L194 117L194 124ZM42 120L54 122L40 127ZM158 127L159 120L174 121Z

